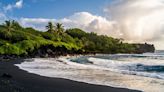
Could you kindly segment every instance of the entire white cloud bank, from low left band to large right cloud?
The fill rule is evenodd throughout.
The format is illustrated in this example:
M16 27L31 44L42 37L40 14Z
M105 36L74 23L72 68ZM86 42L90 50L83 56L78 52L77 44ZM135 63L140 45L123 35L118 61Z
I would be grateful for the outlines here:
M150 42L162 49L164 0L115 0L104 12L105 17L78 12L62 19L22 18L21 23L44 30L48 21L62 22L66 28L78 27L128 42Z

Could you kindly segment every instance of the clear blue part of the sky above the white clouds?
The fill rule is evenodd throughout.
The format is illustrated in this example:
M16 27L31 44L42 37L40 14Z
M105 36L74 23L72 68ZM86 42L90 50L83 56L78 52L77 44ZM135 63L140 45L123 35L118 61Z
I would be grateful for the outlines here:
M13 7L7 11L13 17L28 18L63 18L75 12L90 12L101 14L104 6L111 0L0 0L1 7L15 5L21 2L22 6ZM20 9L19 9L20 8ZM12 10L12 12L11 12Z

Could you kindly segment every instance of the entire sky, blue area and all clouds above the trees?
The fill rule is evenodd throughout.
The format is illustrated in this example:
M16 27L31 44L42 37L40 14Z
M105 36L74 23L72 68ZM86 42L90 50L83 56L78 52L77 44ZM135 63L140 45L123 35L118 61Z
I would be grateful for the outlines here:
M164 0L0 0L0 23L45 31L51 21L164 49Z

